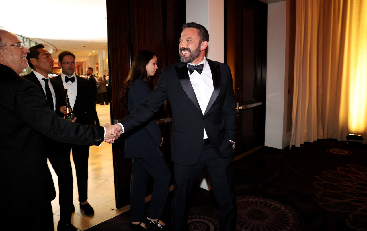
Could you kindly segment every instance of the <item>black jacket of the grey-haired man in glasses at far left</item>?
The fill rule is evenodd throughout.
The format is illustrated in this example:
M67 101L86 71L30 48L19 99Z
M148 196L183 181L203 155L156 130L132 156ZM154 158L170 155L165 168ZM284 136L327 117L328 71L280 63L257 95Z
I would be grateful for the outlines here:
M50 109L39 87L0 64L0 197L7 213L55 198L43 136L79 145L99 145L104 129L62 119ZM22 208L19 210L19 208Z

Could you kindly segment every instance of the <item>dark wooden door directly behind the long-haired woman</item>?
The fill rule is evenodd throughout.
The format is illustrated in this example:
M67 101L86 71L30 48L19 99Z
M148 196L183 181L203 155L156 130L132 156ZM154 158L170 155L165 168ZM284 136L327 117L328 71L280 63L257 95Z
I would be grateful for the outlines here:
M186 3L169 0L107 0L106 3L111 123L116 123L128 115L119 93L138 51L150 50L157 55L159 68L154 86L161 69L179 61L178 39L186 19ZM158 123L165 140L161 148L170 165L169 105L165 104L161 111ZM123 137L112 144L117 208L130 203L131 158L124 158L124 144Z

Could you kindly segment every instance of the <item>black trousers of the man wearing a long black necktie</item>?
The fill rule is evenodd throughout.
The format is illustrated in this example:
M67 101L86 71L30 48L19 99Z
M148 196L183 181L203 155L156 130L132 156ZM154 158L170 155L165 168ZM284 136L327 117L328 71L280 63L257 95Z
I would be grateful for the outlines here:
M48 160L57 174L59 183L59 205L60 205L60 222L70 223L71 208L73 204L73 173L70 163L70 151L62 152L58 149L61 143L53 147L54 151L50 151Z

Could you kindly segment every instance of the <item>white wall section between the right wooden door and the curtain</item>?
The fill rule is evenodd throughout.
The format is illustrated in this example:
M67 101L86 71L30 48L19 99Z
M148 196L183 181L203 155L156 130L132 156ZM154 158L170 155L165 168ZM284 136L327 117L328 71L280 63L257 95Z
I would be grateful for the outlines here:
M286 10L286 1L268 4L265 146L279 149L289 145L286 141Z

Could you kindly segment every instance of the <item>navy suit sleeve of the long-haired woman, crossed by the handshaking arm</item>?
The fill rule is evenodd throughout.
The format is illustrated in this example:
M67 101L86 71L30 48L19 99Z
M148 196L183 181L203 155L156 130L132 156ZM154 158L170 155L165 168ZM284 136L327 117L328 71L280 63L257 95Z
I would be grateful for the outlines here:
M128 101L131 103L133 108L137 108L139 104L145 101L145 99L149 96L150 91L148 86L144 82L138 82L134 84L134 86L130 87ZM159 129L159 125L152 120L148 123L144 130L149 134L150 138L154 141L157 146L160 146L162 143L162 137Z

